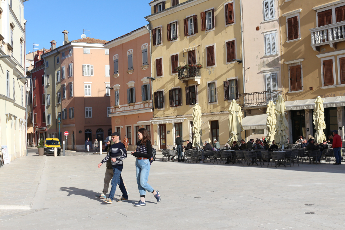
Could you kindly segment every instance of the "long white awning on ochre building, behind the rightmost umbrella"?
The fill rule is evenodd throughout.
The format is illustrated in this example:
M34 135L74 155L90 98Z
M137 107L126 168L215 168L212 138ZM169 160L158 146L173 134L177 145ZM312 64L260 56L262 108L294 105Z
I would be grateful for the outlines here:
M316 98L298 101L285 101L286 110L314 109L315 100ZM323 105L325 108L345 106L345 96L325 97L322 98L322 100L324 101Z

